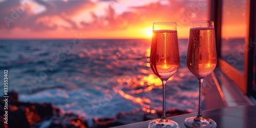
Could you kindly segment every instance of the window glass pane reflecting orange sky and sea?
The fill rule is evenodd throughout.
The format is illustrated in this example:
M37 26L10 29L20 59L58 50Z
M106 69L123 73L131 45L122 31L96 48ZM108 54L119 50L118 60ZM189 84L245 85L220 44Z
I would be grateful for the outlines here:
M244 73L246 0L223 0L221 56Z

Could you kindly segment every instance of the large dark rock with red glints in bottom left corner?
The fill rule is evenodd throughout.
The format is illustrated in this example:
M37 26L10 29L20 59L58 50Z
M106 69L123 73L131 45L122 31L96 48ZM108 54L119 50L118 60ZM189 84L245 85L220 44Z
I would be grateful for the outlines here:
M61 114L51 103L19 102L16 92L8 93L8 128L12 127L88 127L87 120L75 114ZM4 120L5 98L0 98L0 119ZM4 107L2 107L4 106ZM0 127L7 125L0 122Z

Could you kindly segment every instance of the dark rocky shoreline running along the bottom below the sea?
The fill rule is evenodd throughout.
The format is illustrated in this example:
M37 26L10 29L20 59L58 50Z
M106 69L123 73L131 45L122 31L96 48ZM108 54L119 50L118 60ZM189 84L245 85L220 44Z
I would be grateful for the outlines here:
M93 125L89 126L88 120L73 113L61 113L60 109L51 103L31 103L18 101L16 92L8 93L8 115L7 122L5 112L5 98L0 98L0 127L112 127L140 121L151 120L161 117L161 112L145 113L138 110L133 112L120 112L116 117L94 118ZM187 114L186 111L172 110L167 111L166 115L176 116Z

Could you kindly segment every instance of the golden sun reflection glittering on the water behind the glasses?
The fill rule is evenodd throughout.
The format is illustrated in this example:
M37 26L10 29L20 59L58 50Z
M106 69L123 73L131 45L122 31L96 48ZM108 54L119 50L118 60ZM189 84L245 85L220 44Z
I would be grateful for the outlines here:
M143 95L143 93L150 93L153 89L161 89L162 81L153 74L150 68L150 47L146 49L145 58L138 61L137 65L140 66L138 68L138 72L136 73L127 73L122 77L117 79L119 86L123 86L123 88L132 89L131 91L124 91L125 89L118 90L118 93L125 99L131 100L133 103L141 106L140 109L147 113L156 113L156 107L150 105L152 102L151 99L148 99ZM138 75L137 75L138 74ZM183 77L184 74L180 74L180 77ZM168 81L175 79L174 76L170 77ZM177 78L176 78L177 79ZM162 99L162 97L158 97ZM158 108L158 107L157 107Z

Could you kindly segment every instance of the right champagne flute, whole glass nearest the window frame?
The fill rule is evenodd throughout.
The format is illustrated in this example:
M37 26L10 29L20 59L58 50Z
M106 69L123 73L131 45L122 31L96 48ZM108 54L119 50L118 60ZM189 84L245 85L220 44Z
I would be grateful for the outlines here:
M187 68L199 80L199 107L195 117L188 117L186 127L216 127L214 120L202 116L202 84L217 65L214 22L191 22L187 45Z

